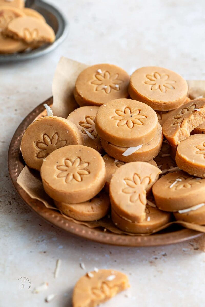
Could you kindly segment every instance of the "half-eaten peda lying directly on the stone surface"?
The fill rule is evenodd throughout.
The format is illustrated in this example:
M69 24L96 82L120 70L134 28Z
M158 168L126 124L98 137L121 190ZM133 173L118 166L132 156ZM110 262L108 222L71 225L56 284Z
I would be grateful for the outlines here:
M90 277L89 277L90 275ZM73 307L95 307L129 287L128 277L115 270L82 276L73 289Z

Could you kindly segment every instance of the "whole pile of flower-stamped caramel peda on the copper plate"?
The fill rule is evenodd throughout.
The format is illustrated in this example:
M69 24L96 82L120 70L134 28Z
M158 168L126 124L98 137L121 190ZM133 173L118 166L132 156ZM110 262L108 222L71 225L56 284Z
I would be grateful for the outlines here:
M34 121L22 156L75 220L101 219L111 203L113 223L127 233L152 233L172 213L205 224L205 135L190 136L205 120L205 99L189 101L187 90L165 68L140 68L130 78L115 65L90 66L73 89L80 107L67 119ZM163 127L157 112L166 114Z

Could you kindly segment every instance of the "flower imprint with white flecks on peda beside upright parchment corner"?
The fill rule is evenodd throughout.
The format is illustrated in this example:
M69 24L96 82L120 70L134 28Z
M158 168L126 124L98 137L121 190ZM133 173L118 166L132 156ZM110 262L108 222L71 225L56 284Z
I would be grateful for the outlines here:
M123 83L122 80L118 79L119 74L111 75L108 71L95 74L95 80L91 84L97 85L95 88L96 91L104 90L106 94L109 94L111 90L119 91L120 85Z

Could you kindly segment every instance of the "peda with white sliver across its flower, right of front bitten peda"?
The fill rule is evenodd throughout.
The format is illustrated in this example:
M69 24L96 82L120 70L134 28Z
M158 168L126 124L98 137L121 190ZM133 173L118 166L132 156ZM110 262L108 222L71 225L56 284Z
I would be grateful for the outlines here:
M203 203L205 179L183 171L168 173L152 187L156 206L164 211L179 211Z

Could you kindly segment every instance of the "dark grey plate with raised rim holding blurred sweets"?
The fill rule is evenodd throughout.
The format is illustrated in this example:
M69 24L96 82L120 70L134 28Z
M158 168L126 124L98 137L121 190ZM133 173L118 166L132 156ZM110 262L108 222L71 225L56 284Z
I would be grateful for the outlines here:
M34 59L38 56L45 55L61 44L67 35L68 22L54 6L42 0L27 0L25 6L38 11L44 16L46 22L53 28L56 34L56 40L51 45L43 45L29 52L0 55L0 63Z

